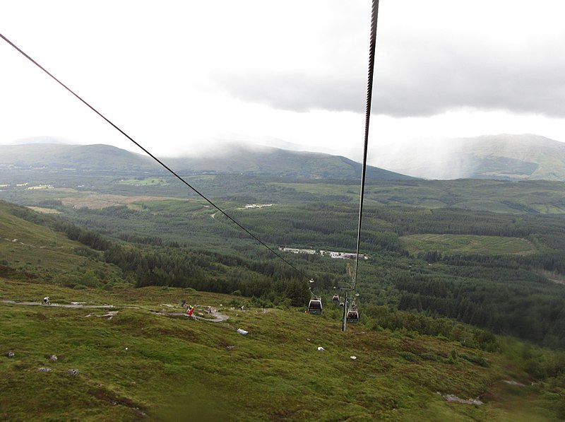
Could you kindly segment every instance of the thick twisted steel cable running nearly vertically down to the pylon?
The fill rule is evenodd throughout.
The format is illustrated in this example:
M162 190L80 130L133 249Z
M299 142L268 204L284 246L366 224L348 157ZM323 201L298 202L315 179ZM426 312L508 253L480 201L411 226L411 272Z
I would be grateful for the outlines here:
M371 8L371 36L369 42L369 74L367 77L367 106L365 107L365 139L363 145L363 164L361 170L361 194L359 194L359 225L357 225L357 257L352 289L357 286L357 268L359 266L359 245L361 243L361 220L363 216L363 198L365 192L365 172L367 170L367 146L369 145L369 120L371 119L371 100L373 97L373 75L375 66L376 20L379 15L379 0L373 0Z

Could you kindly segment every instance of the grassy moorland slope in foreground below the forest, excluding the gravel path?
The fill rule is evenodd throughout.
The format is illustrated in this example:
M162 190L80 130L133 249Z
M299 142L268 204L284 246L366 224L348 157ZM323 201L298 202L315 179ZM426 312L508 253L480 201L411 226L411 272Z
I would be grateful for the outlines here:
M0 279L3 298L37 298L44 289ZM172 288L105 292L53 286L52 292L61 301L153 309L177 305L181 298L217 307L237 300ZM0 344L16 353L0 360L0 418L133 421L143 412L149 420L170 421L186 415L237 421L466 421L510 418L527 405L530 413L551 420L535 387L502 391L502 379L528 379L504 356L484 353L490 363L485 368L461 358L476 351L457 342L369 332L361 325L343 333L338 321L299 310L223 308L230 320L208 324L131 308L108 320L86 317L105 310L0 304L5 322ZM239 327L249 334L237 334ZM49 362L52 354L59 356L57 362ZM40 367L52 372L40 373ZM71 368L79 375L69 375ZM493 389L499 399L484 406L450 404L436 394L468 398ZM512 402L517 396L523 405L499 407L502 399Z

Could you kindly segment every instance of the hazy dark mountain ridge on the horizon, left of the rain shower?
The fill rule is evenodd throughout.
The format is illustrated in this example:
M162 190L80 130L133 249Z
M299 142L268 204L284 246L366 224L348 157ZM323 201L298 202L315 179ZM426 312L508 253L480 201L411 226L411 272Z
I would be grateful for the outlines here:
M239 173L306 179L355 179L362 165L349 158L279 148L231 146L207 157L163 158L179 174ZM114 146L37 143L0 146L1 171L114 172L117 175L166 170L149 157ZM367 179L409 180L413 177L367 166Z

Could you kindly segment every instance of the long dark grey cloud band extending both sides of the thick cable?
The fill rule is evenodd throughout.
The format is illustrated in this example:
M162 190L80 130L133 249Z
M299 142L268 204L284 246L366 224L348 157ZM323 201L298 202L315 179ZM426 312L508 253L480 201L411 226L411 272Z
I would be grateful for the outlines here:
M383 50L376 59L375 114L427 117L472 108L565 117L565 57L547 47L504 52L431 40ZM275 109L364 112L367 76L335 69L240 71L216 81L236 98Z

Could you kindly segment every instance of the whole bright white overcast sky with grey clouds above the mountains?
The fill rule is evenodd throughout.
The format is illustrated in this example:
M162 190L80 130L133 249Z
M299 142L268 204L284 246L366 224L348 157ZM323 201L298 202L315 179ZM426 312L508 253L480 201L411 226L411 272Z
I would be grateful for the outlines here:
M371 1L5 1L0 33L156 156L362 156ZM369 163L446 137L565 141L565 1L381 0ZM141 152L0 40L0 144Z

